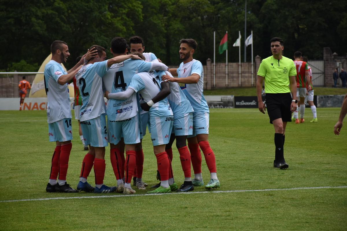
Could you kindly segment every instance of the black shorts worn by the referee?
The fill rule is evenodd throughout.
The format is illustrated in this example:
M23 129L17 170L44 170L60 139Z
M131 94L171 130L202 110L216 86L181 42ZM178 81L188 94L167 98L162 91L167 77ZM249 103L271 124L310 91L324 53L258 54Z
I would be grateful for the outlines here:
M265 102L270 124L278 118L282 118L283 122L291 122L291 100L290 93L266 93Z

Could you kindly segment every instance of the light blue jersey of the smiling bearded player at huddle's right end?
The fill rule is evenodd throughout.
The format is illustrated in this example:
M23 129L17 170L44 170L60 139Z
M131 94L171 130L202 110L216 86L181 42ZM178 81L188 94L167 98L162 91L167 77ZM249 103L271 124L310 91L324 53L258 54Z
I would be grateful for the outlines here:
M188 63L181 63L177 69L178 78L185 78L192 74L200 75L198 83L179 83L178 85L187 96L189 102L191 102L194 112L209 112L209 106L207 105L204 97L204 69L200 61L193 59Z

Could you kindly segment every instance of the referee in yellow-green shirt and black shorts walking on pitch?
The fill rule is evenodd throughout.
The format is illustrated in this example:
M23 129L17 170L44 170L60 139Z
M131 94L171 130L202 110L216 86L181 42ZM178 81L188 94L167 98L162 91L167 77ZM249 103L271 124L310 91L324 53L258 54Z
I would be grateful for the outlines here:
M266 107L270 123L275 129L276 149L273 167L286 169L289 165L284 159L283 145L287 122L291 122L291 113L297 108L296 68L293 60L282 56L284 47L281 38L271 38L270 43L272 56L262 60L257 73L258 108L265 114L266 108L261 97L265 80Z

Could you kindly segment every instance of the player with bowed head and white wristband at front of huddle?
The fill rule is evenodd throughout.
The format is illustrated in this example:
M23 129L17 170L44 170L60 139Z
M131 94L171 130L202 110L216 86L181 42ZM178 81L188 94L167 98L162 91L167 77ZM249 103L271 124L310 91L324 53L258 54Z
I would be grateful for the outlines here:
M166 96L170 94L170 85L168 82L162 82L160 86L156 81L158 78L158 73L155 71L139 72L133 76L126 91L107 94L107 97L126 99L130 95L135 95L136 92L142 95L145 102L141 104L141 107L150 113L151 139L161 175L161 186L149 193L170 193L171 190L177 189L177 185L173 179L171 161L165 146L170 140L174 117L166 99Z

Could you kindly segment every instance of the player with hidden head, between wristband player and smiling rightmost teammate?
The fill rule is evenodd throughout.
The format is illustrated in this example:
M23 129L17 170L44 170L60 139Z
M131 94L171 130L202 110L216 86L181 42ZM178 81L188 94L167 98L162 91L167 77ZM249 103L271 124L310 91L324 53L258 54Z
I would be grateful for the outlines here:
M158 72L157 81L162 81L163 75L169 75L174 78L168 71ZM186 140L188 135L193 134L193 107L189 102L187 96L183 93L178 83L169 82L171 93L167 96L170 103L172 112L174 113L174 126L170 136L170 142L166 145L165 151L168 153L169 158L172 161L172 143L176 138L176 147L179 152L181 160L181 166L184 172L184 183L177 190L178 192L188 192L194 190L191 178L191 154L189 153ZM170 157L171 155L171 157ZM153 187L159 187L155 185Z

